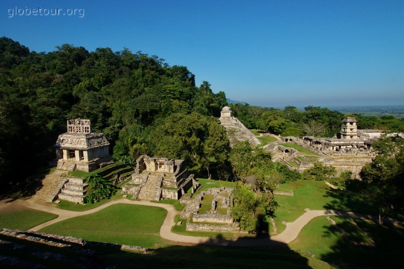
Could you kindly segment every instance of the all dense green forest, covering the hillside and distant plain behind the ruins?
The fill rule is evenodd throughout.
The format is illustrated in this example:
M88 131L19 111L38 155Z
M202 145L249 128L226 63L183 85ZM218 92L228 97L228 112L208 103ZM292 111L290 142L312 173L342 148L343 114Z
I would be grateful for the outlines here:
M111 142L114 159L141 154L185 159L198 176L229 178L231 149L219 124L224 92L195 85L183 66L128 49L64 44L30 51L0 38L0 183L14 184L55 157L52 145L66 120L90 119ZM231 104L246 127L281 135L333 136L344 115L327 108L284 110ZM404 131L392 116L355 115L360 128ZM234 154L233 154L234 155ZM283 171L283 170L282 170ZM282 174L282 173L281 173Z

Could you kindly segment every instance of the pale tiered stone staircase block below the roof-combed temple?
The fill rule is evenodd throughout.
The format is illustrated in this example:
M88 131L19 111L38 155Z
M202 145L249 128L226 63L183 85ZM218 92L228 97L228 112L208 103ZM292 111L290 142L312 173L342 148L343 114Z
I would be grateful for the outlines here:
M68 178L58 198L74 203L83 203L88 183L83 178Z

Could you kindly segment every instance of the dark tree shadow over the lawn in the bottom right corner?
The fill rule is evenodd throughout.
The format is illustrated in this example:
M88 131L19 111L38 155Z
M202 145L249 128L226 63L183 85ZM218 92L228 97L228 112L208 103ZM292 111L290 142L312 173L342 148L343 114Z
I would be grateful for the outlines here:
M369 220L337 219L338 228L329 225L324 236L338 240L331 251L319 258L345 268L400 268L404 229L383 227Z

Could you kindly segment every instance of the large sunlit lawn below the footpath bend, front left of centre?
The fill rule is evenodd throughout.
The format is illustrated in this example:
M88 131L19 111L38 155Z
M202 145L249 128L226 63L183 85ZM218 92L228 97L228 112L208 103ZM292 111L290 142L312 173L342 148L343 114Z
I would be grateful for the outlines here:
M152 247L163 243L159 231L166 214L160 207L114 204L96 213L45 227L40 232Z

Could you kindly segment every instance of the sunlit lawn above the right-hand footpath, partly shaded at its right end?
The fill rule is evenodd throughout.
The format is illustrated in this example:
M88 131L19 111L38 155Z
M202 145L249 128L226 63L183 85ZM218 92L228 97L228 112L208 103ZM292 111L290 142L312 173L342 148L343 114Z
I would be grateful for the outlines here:
M377 212L361 200L359 194L334 190L324 181L298 180L279 185L280 189L292 189L294 196L275 194L278 207L275 210L275 224L278 233L285 229L282 221L293 222L303 213L305 208L312 210L335 209L354 211L356 213ZM271 229L272 231L272 229Z

